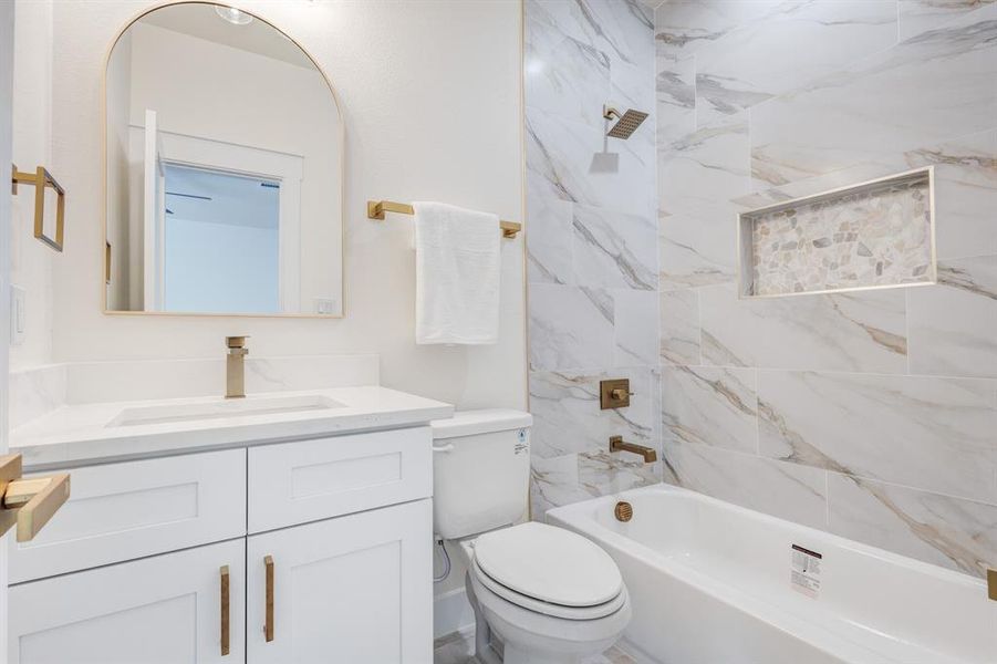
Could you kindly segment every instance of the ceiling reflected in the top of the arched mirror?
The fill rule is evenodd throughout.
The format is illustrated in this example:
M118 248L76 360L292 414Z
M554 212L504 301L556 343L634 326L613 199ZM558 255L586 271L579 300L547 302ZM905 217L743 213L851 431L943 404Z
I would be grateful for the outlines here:
M219 17L215 7L217 6L206 3L169 4L150 11L137 22L281 60L295 66L315 69L304 51L277 28L260 19L255 19L248 25L235 25Z

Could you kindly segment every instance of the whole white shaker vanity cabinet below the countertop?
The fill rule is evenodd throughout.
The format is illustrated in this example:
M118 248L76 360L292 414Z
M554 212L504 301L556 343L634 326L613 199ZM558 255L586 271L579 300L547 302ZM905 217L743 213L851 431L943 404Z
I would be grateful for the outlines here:
M432 662L428 427L67 471L11 543L11 664Z

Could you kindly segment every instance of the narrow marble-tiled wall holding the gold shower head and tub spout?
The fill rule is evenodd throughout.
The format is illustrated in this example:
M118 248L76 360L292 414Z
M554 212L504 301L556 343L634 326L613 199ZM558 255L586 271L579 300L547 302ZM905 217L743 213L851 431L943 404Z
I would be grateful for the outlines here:
M655 46L637 0L527 0L527 219L532 515L661 481ZM651 113L607 138L603 104ZM681 329L677 334L684 333ZM600 411L599 381L632 405Z

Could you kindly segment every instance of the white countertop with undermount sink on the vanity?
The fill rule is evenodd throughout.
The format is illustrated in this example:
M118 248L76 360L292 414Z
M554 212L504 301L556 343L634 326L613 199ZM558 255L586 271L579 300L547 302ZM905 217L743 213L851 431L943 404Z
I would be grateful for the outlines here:
M252 394L238 401L240 407L251 408L253 400L290 403L288 400L295 397L303 402L324 397L336 402L337 407L249 412L233 416L216 414L206 419L172 418L167 422L122 425L117 423L123 412L210 407L225 400L194 397L66 405L13 429L10 452L21 454L28 469L44 470L292 438L418 426L454 414L450 404L377 386Z

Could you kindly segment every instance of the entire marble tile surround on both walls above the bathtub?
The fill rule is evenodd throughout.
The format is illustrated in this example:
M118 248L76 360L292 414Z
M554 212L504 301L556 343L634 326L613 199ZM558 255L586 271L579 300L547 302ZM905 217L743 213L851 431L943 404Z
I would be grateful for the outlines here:
M526 48L534 518L663 478L997 567L997 3L527 0ZM738 298L739 212L930 165L937 286Z

